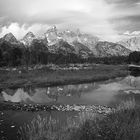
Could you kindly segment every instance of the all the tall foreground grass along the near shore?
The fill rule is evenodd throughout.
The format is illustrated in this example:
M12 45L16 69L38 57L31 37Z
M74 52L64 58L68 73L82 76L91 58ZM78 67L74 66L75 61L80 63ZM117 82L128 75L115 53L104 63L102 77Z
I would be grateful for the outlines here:
M51 117L38 116L20 128L21 140L139 140L140 108L126 101L106 116L81 112L65 125Z

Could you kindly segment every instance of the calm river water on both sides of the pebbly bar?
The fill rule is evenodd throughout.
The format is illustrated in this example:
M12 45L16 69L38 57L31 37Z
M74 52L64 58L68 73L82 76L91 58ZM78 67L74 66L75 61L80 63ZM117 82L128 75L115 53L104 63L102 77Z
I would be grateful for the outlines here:
M5 89L0 93L0 101L32 104L96 104L115 106L123 100L135 98L140 104L140 77L128 76L106 82L67 85L46 88ZM52 116L64 121L66 116L76 116L76 112L23 112L0 111L0 139L17 140L17 130L37 115ZM11 139L12 138L12 139Z

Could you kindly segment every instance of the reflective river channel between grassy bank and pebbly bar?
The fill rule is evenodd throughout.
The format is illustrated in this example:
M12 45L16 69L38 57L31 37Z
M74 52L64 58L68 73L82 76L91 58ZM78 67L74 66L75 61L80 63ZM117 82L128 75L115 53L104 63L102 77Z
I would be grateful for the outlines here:
M25 103L116 104L131 95L140 96L140 77L128 76L102 83L46 88L26 87L1 92L1 100ZM135 95L134 95L135 94ZM140 100L139 100L140 101Z

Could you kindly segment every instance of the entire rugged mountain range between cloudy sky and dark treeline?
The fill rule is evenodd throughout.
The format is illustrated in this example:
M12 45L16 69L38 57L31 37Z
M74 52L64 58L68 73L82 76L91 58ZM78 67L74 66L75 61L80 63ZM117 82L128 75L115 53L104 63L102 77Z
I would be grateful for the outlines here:
M12 33L6 34L0 39L2 42L8 42L19 47L30 48L33 45L43 44L50 53L53 54L75 54L81 58L110 57L110 56L127 56L131 51L131 46L136 45L133 49L140 50L138 46L140 39L126 42L112 43L100 41L97 36L81 33L79 30L59 31L56 26L48 29L42 36L35 36L28 32L21 40L17 40ZM37 44L37 45L38 45Z

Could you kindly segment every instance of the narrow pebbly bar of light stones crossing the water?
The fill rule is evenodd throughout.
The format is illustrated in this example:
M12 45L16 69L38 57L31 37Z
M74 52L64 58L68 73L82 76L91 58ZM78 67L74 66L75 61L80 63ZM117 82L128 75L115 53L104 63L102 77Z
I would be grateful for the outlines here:
M12 102L0 102L0 111L26 111L26 112L38 112L38 111L91 111L99 114L108 114L113 109L107 106L101 105L61 105L61 104L25 104L25 103L12 103Z

